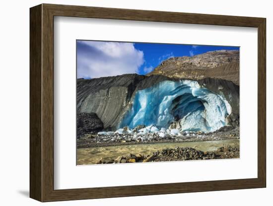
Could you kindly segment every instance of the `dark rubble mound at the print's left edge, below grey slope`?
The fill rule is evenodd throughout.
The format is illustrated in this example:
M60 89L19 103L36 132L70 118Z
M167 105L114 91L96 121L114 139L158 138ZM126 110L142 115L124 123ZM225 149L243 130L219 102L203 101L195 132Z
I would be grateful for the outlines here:
M103 123L95 113L77 114L77 138L103 129Z

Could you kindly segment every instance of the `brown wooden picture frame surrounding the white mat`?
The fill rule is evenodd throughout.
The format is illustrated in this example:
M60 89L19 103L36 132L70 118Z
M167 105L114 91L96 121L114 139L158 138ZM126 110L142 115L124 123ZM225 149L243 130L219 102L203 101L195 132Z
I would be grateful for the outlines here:
M54 16L258 28L258 178L118 187L54 189ZM41 201L266 187L266 19L40 4L30 8L30 197Z

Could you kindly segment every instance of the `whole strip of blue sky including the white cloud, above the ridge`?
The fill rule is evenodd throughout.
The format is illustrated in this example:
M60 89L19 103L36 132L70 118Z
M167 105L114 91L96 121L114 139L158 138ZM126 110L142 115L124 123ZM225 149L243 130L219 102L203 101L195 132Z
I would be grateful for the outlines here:
M77 78L146 74L163 60L239 47L77 40Z

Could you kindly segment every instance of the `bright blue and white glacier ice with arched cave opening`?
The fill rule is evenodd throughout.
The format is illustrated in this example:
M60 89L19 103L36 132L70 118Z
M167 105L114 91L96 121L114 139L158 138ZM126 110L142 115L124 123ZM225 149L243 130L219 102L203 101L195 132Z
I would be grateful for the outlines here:
M197 81L163 81L136 92L119 128L168 128L171 122L179 120L182 131L212 132L226 125L225 118L230 113L231 106L224 97Z

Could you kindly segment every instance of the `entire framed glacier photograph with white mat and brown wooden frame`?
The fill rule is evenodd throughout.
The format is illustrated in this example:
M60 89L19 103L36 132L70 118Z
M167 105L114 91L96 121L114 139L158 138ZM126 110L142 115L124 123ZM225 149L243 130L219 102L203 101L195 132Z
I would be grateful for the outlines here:
M30 8L30 197L266 187L266 19Z

